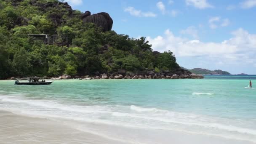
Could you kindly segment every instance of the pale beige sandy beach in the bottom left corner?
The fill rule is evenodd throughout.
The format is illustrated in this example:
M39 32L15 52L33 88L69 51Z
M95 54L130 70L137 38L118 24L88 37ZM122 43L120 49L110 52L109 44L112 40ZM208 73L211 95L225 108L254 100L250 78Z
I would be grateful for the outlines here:
M122 144L46 119L0 111L1 144Z

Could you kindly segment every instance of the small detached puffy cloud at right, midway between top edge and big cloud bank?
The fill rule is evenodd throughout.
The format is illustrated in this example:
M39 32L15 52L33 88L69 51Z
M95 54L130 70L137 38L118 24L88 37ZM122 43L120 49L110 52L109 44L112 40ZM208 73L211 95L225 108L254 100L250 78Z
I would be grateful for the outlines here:
M220 16L214 16L209 19L208 23L211 29L216 29L217 27L227 27L230 21L229 19L222 20Z

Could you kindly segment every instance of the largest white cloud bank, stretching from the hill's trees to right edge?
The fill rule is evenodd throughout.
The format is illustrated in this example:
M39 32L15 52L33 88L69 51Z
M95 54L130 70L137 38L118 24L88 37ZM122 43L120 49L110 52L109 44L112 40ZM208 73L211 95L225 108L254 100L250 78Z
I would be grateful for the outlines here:
M177 57L203 57L205 60L218 60L218 63L256 63L256 34L240 28L232 32L232 38L220 43L204 43L175 36L169 29L163 36L147 37L154 51L171 50Z

